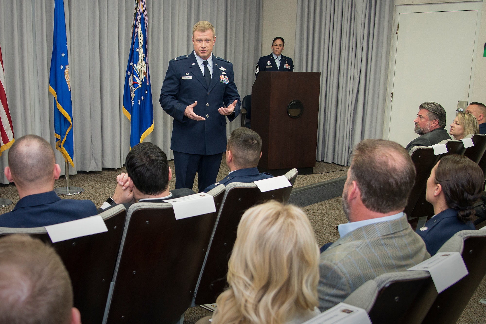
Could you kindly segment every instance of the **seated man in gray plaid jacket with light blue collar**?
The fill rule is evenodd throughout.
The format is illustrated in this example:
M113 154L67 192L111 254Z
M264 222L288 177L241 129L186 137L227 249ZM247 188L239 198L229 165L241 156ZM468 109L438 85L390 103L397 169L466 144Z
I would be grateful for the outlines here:
M343 190L349 223L338 226L341 238L320 256L321 311L367 280L430 258L403 213L414 181L415 166L398 143L375 139L355 146Z

